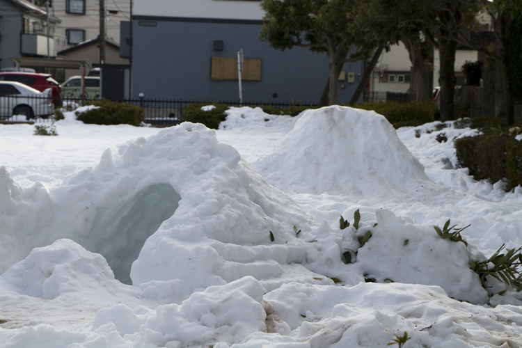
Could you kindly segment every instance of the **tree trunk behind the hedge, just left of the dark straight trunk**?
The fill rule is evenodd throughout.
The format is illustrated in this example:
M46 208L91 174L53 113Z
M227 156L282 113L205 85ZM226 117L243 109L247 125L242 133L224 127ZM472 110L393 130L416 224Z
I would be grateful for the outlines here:
M411 65L411 82L410 95L415 97L415 100L427 100L431 95L432 86L429 86L429 71L426 64L426 57L423 53L424 47L422 42L413 42L409 38L402 40L404 46L408 50Z

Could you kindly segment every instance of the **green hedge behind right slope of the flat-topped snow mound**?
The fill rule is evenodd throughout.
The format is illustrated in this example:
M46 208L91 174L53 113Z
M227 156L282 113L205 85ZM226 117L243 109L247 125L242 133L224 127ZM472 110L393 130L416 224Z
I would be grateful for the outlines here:
M373 110L381 114L395 128L414 127L433 122L438 113L436 104L431 100L404 104L395 101L363 102L354 107L356 109Z

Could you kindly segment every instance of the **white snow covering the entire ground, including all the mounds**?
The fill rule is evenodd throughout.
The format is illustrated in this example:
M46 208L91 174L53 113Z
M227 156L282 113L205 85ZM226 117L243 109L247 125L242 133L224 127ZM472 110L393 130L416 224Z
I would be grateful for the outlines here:
M522 347L522 296L468 266L522 244L522 190L455 169L474 130L228 113L0 125L0 347Z

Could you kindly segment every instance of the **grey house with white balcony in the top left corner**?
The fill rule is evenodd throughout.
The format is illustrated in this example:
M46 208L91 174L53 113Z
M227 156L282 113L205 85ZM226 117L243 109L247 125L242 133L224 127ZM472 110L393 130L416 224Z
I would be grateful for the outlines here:
M9 57L56 56L59 46L54 33L60 22L45 7L30 1L0 0L0 68L14 66Z

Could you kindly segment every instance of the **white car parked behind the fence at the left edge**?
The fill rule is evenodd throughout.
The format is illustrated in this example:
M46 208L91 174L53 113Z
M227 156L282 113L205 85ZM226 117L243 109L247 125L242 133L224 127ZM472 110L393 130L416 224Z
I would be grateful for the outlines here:
M53 114L52 88L43 92L15 81L0 81L0 118L47 118Z

